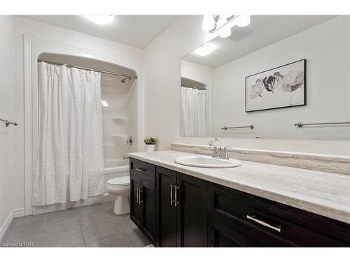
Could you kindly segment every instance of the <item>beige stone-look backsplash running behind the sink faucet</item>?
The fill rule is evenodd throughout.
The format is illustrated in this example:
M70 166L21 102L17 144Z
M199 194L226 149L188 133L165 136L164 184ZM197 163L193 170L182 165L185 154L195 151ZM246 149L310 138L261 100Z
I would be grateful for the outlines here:
M207 145L172 143L172 150L195 154L213 154L213 147L209 147ZM251 150L236 147L230 148L228 150L228 154L232 159L272 163L279 166L290 166L294 168L304 168L350 175L350 157L346 156L271 150Z

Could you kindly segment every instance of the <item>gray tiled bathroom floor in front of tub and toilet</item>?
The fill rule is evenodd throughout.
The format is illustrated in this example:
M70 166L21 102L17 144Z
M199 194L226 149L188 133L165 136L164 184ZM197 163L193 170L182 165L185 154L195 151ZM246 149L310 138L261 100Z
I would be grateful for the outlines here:
M113 213L114 201L14 219L1 242L34 247L145 247L130 214Z

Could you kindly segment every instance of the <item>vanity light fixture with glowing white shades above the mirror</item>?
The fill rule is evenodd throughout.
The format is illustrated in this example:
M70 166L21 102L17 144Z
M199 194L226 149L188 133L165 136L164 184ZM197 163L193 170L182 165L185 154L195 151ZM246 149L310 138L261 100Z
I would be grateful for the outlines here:
M246 27L250 23L250 15L204 15L202 28L211 34L218 31L219 36L228 37L232 27Z

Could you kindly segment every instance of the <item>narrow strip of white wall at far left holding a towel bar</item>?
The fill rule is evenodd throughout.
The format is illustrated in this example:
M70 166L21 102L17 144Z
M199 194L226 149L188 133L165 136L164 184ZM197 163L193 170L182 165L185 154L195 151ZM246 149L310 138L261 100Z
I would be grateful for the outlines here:
M0 15L0 118L14 121L13 16ZM13 132L15 126L0 122L0 228L13 210ZM0 232L1 233L1 232Z

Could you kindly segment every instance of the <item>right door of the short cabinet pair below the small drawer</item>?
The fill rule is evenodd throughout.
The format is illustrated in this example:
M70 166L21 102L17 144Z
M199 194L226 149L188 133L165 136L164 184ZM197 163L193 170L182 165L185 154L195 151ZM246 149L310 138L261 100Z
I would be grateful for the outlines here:
M155 243L155 182L148 177L141 178L141 230Z

